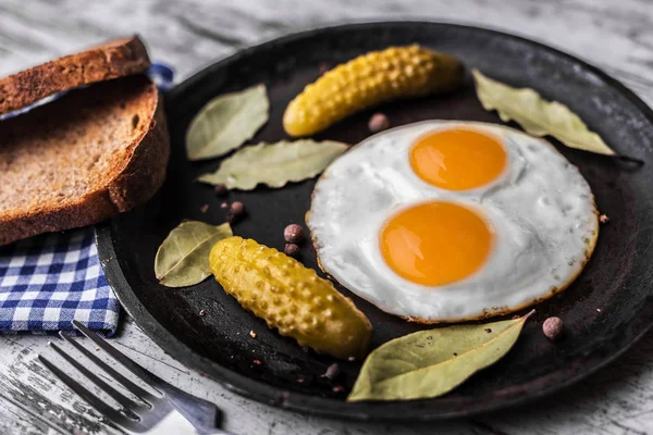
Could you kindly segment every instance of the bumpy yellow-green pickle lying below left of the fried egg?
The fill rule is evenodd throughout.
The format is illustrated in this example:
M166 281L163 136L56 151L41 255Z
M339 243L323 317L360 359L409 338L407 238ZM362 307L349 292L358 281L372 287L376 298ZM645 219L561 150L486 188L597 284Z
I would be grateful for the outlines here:
M367 355L370 321L312 269L237 236L215 244L209 261L224 290L281 335L344 360Z

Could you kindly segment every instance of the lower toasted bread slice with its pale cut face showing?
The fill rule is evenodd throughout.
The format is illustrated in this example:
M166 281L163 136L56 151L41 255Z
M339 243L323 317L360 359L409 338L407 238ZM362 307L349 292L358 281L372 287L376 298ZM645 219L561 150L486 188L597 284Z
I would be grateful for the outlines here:
M0 245L103 221L163 184L170 142L144 75L0 122Z

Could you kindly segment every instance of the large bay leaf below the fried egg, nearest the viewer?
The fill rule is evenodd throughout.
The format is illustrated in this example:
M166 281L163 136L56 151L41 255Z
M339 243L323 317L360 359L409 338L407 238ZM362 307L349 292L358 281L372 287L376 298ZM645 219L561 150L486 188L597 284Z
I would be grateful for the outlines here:
M365 360L347 400L412 400L448 393L507 353L531 313L420 331L387 341Z

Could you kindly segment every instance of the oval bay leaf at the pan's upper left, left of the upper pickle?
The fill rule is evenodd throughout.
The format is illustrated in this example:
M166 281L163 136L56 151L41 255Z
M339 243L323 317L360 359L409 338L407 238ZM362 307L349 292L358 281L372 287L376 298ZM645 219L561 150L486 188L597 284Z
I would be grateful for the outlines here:
M186 132L188 160L210 159L238 148L268 122L269 109L263 84L213 98Z

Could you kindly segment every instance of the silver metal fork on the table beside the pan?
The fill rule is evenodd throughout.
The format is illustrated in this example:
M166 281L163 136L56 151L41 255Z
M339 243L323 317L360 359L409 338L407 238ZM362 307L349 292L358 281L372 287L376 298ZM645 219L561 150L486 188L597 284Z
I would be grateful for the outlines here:
M107 419L128 431L143 433L152 428L167 414L176 410L195 427L198 434L229 435L227 432L221 431L217 427L217 420L220 411L215 405L207 400L198 399L197 397L170 385L157 375L138 365L136 362L132 361L124 353L120 352L103 338L79 322L74 320L73 325L82 334L90 338L98 347L109 353L115 361L120 362L125 369L131 371L144 383L160 394L160 396L156 396L139 387L124 375L115 371L104 361L96 357L74 338L60 332L59 335L61 338L73 345L75 349L91 360L98 368L102 369L110 377L118 381L134 396L143 400L143 403L138 403L137 401L127 398L111 385L102 381L98 375L93 373L77 359L66 353L59 345L49 341L48 344L50 347L54 349L57 353L63 357L66 362L77 369L84 376L90 380L94 384L104 390L104 393L107 393L109 396L111 396L111 398L121 405L122 408L120 410L110 407L109 405L104 403L102 399L90 393L86 387L50 362L46 357L42 355L38 356L39 360L50 371L52 371L57 377L59 377L65 385L69 386L69 388L78 394Z

